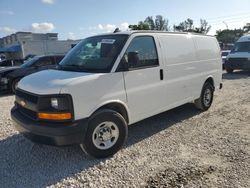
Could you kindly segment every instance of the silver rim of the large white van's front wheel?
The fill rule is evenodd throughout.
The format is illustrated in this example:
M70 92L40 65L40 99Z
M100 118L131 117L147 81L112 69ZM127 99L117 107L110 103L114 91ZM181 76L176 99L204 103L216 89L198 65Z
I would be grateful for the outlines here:
M117 125L111 121L100 123L94 130L92 141L101 150L106 150L115 145L119 137Z

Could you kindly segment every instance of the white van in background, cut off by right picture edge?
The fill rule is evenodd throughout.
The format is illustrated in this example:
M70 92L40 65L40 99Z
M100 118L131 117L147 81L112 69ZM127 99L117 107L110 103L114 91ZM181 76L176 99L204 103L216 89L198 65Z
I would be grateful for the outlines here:
M234 70L250 70L250 35L241 37L235 43L224 66L228 73Z

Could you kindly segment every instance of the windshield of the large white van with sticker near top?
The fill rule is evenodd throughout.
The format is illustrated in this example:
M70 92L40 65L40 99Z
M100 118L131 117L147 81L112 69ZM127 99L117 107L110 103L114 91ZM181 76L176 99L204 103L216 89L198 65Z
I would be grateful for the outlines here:
M60 62L59 69L110 72L128 35L103 35L84 39Z

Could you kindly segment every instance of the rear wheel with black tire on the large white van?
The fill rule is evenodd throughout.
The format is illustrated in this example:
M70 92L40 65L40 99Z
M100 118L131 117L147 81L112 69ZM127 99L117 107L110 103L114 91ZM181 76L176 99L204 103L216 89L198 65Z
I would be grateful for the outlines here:
M202 88L200 98L194 101L196 108L206 111L210 108L214 98L214 87L206 82Z

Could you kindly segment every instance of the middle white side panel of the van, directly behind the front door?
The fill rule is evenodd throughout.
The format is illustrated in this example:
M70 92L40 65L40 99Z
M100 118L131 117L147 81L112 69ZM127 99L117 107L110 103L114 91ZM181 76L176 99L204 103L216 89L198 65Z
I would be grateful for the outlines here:
M191 85L195 79L195 44L192 35L160 34L161 60L165 66L164 76L168 108L194 99ZM201 88L197 88L201 91ZM197 97L197 96L196 96Z

